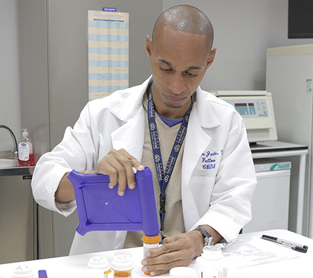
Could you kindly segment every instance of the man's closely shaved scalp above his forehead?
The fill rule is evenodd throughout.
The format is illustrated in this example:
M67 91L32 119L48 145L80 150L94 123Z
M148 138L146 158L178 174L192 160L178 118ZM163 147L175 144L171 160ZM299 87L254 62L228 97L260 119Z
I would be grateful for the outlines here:
M156 42L163 28L207 36L208 49L213 45L214 30L209 18L193 6L179 5L165 10L154 24L152 42Z

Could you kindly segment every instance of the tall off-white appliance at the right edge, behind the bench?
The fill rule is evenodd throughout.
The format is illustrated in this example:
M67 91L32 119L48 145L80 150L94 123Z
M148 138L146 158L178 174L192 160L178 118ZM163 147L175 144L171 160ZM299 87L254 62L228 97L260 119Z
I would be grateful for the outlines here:
M313 44L266 50L266 90L273 94L279 138L309 146L305 177L303 231L313 238L312 126ZM294 164L294 161L291 161ZM291 207L296 207L296 181L291 175ZM290 224L290 222L289 222Z

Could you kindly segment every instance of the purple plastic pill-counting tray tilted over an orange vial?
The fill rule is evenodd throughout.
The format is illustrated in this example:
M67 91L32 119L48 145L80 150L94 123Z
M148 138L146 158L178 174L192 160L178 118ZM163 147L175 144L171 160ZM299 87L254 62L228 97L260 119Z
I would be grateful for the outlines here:
M82 236L88 231L143 231L146 236L159 234L157 205L152 172L137 171L136 188L118 195L118 186L109 188L109 176L81 174L72 170L67 176L74 187Z

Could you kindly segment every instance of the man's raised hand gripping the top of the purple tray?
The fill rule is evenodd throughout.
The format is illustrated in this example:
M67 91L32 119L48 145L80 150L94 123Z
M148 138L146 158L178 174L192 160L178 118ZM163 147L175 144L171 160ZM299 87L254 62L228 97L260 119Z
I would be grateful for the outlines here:
M97 174L108 174L110 177L109 187L113 188L118 183L118 195L125 194L127 184L130 189L135 188L136 180L132 167L143 170L145 167L131 156L125 149L112 149L104 156L97 166Z

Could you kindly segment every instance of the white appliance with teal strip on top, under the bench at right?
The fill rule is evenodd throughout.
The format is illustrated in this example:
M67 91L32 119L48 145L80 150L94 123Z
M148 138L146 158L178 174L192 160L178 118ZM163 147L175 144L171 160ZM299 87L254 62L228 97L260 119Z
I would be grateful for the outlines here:
M257 187L252 198L252 220L243 233L288 229L291 163L273 158L254 159Z

